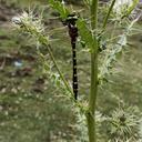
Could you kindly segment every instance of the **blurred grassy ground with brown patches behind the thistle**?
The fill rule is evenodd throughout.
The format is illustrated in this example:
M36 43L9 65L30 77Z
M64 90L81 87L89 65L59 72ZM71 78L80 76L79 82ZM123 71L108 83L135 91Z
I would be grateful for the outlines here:
M70 8L88 11L82 1L68 0ZM73 4L73 6L71 6ZM48 0L0 1L0 142L85 142L84 118L72 108L44 73L36 52L34 41L17 32L11 18L22 10L43 11L52 34L52 51L71 82L71 48L67 29L48 7ZM105 11L102 11L105 13ZM100 16L100 19L102 17ZM141 21L138 26L141 26ZM142 33L129 38L114 64L109 83L99 89L98 135L100 142L138 142L141 138L142 111ZM47 49L42 47L42 52ZM90 81L90 58L78 44L80 98L87 99ZM126 125L126 126L125 126ZM125 130L125 128L129 128ZM126 136L124 136L126 135Z

